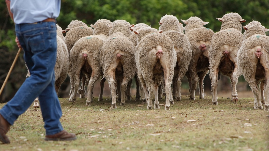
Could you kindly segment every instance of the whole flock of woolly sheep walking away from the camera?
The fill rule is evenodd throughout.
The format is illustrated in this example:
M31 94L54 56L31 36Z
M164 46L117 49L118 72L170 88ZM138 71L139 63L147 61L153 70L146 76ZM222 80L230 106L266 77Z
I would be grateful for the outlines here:
M100 95L105 80L111 90L111 108L116 106L116 93L120 105L130 100L132 79L136 80L136 99L147 102L147 109L158 109L158 98L165 92L165 110L174 99L181 100L181 80L189 82L190 99L195 99L197 82L199 98L204 99L203 80L210 71L212 102L218 105L217 86L220 74L231 79L232 101L238 101L236 84L243 74L254 94L254 109L269 110L269 37L268 31L258 21L244 26L246 20L238 13L228 13L222 18L221 30L214 33L203 27L208 24L199 17L181 20L173 15L160 19L159 30L144 23L131 25L125 20L111 22L100 19L88 27L73 20L63 37L57 28L57 62L55 88L58 91L67 73L70 77L70 102L77 93L85 97L86 105L93 101L93 85L102 76ZM184 34L185 30L185 34ZM260 85L259 85L260 84ZM258 90L260 87L260 94ZM265 91L265 94L264 94ZM265 97L266 96L266 97ZM153 106L154 97L154 106ZM266 98L266 99L265 99ZM36 105L37 106L37 105Z

